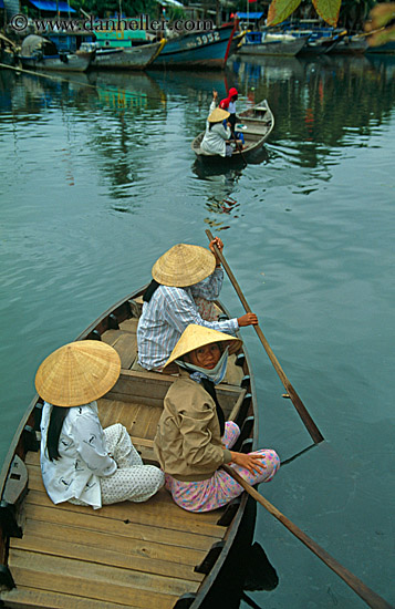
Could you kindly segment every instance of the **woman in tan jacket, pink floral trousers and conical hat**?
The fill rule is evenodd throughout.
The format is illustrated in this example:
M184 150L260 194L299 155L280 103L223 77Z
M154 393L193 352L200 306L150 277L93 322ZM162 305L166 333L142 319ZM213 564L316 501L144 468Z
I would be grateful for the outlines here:
M228 352L241 341L201 326L188 326L166 367L176 362L179 376L164 401L154 451L165 472L166 488L189 512L209 512L243 492L222 464L250 484L269 482L280 466L272 450L232 451L240 430L225 421L215 385L224 378Z

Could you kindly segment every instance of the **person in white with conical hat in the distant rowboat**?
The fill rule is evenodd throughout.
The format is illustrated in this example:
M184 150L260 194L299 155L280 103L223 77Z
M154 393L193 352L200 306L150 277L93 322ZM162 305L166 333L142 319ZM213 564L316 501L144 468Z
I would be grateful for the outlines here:
M212 102L210 114L206 122L206 133L200 144L200 148L207 154L219 156L231 156L233 147L229 140L231 138L230 123L227 123L229 112L217 107L218 93L212 91Z

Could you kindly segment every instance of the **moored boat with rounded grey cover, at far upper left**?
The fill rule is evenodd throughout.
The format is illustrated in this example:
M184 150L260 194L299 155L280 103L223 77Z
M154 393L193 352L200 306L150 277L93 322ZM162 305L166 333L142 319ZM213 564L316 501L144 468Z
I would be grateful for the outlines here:
M94 58L94 51L76 53L59 52L55 44L40 35L28 35L18 59L23 68L39 68L62 72L85 72Z

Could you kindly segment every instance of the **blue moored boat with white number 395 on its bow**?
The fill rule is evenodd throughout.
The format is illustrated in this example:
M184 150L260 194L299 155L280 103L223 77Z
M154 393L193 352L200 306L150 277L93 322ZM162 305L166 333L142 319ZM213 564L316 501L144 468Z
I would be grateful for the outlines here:
M230 23L170 39L152 68L225 68L243 35L235 32L236 23Z

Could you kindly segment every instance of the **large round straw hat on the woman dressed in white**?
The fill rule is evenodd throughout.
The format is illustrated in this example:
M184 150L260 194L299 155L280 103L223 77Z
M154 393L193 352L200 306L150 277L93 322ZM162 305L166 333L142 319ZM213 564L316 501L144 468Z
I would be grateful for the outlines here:
M115 349L97 340L81 340L56 349L41 363L35 389L55 406L81 406L107 393L119 372Z

